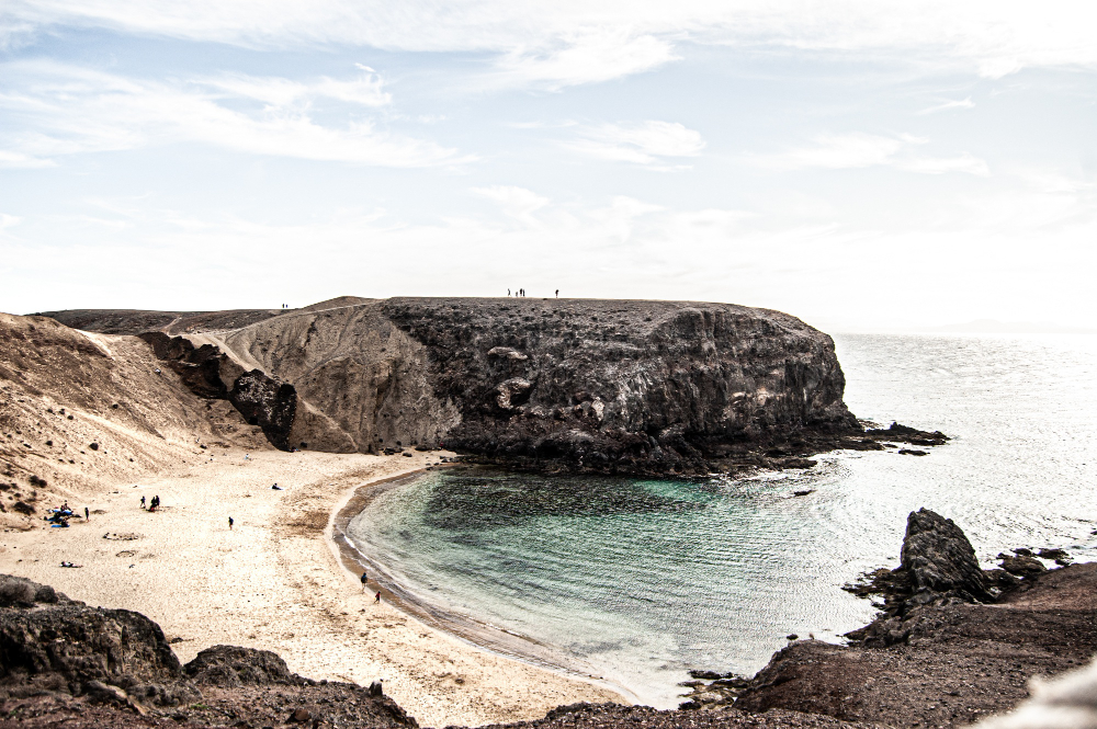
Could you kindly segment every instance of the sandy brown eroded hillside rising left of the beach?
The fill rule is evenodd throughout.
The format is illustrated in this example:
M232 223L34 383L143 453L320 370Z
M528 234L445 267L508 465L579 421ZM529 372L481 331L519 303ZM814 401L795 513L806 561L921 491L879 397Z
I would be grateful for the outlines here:
M222 443L270 447L140 339L0 314L0 523L25 526L58 499L207 457Z

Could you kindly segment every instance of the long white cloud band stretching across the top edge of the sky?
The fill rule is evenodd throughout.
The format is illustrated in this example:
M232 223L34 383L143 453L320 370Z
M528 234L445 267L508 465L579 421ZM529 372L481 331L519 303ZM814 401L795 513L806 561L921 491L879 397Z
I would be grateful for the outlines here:
M559 88L654 68L682 41L871 52L989 78L1028 66L1094 67L1095 24L1097 7L1071 0L7 0L0 39L92 26L263 48L487 52L512 81Z

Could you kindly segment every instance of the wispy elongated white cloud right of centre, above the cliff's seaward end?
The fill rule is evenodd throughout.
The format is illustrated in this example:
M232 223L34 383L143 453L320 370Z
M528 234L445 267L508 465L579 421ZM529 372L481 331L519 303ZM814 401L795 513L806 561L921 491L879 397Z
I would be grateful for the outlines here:
M986 162L970 152L942 158L914 152L916 145L928 141L912 135L881 136L861 132L821 135L811 147L790 149L779 155L759 155L751 159L762 167L778 170L807 168L841 170L887 166L924 174L945 172L966 172L981 176L989 174Z

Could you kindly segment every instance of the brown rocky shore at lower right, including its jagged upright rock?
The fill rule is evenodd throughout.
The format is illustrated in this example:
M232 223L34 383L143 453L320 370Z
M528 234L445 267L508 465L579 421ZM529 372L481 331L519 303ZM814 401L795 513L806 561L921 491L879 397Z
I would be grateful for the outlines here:
M875 620L847 634L849 646L794 640L735 706L959 727L1008 710L1030 676L1076 669L1097 649L1097 565L1041 565L1024 578L981 570L960 527L925 509L907 520L902 562L849 585L884 597Z

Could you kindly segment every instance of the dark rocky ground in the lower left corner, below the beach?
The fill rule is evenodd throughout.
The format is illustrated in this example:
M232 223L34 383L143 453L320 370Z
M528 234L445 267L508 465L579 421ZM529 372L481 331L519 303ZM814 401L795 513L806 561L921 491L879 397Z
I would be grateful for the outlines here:
M380 685L316 682L270 651L215 646L181 665L139 613L0 576L0 727L416 727Z

